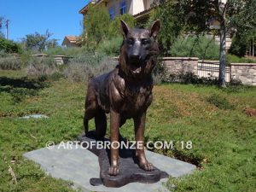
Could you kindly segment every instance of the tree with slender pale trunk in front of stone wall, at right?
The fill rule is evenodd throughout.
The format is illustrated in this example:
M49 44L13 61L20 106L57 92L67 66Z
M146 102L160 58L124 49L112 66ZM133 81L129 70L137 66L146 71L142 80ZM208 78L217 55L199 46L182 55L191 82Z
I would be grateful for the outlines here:
M255 31L256 0L181 0L177 7L183 9L186 26L195 32L212 31L210 20L218 20L220 37L218 84L225 87L226 35L238 28Z

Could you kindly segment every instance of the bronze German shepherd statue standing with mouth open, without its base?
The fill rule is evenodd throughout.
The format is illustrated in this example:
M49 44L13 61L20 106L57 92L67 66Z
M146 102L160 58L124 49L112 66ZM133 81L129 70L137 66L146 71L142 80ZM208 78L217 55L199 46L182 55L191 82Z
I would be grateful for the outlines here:
M123 44L120 49L119 65L110 73L90 80L85 99L84 131L88 135L88 121L95 118L96 139L105 136L107 118L110 113L111 160L109 175L119 174L119 127L126 119L134 120L135 138L144 142L146 112L152 102L152 70L159 55L155 38L160 31L160 20L154 21L149 29L131 29L121 20ZM153 171L154 166L146 159L144 148L137 148L139 166Z

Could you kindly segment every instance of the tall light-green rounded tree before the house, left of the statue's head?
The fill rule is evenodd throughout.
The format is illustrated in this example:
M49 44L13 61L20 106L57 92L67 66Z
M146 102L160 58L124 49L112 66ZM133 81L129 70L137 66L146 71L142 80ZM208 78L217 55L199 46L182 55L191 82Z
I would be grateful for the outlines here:
M108 38L108 27L110 17L108 9L102 5L90 5L84 17L84 39L89 43L96 43L96 46Z

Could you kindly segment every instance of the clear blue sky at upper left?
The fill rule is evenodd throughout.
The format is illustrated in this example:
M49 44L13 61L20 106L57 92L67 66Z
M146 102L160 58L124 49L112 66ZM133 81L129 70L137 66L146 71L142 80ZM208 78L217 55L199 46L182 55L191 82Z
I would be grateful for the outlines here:
M9 39L19 41L26 34L48 29L50 38L62 43L66 35L82 33L83 15L89 0L0 0L0 16L9 19ZM5 31L5 30L4 30Z

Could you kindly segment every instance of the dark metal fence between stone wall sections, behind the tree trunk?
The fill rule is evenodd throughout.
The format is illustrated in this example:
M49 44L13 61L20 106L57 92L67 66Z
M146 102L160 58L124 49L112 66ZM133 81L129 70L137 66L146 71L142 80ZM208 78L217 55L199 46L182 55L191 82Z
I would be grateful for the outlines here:
M200 78L218 78L218 61L198 61L197 75ZM230 66L226 66L226 82L230 82Z

